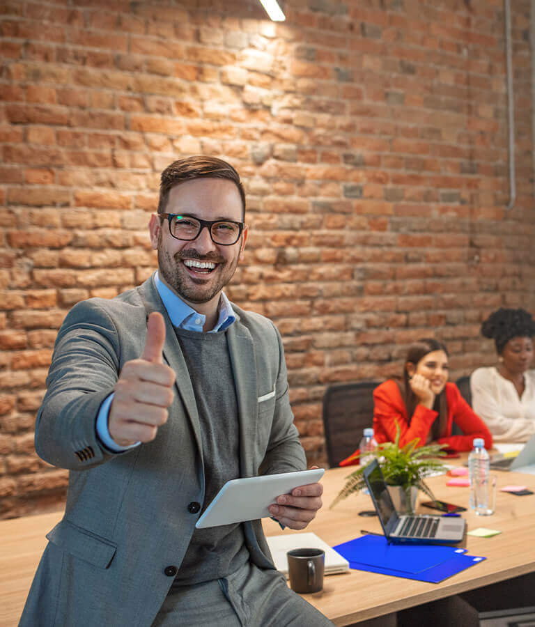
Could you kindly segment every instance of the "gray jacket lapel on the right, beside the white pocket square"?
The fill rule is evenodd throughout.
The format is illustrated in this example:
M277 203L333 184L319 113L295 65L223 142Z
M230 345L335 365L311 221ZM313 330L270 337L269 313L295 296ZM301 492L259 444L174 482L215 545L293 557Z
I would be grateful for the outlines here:
M256 359L251 334L240 323L240 318L228 327L228 353L234 376L236 396L238 398L238 422L240 425L240 470L242 477L253 477L254 467L251 442L256 441L257 426L257 390Z

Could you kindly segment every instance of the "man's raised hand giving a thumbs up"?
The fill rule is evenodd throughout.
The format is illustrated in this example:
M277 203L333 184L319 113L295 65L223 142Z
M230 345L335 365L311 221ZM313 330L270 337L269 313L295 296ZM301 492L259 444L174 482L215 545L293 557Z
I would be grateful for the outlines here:
M150 442L167 421L173 402L175 373L164 364L165 323L162 314L148 316L145 348L139 359L123 366L115 385L108 416L108 431L119 446Z

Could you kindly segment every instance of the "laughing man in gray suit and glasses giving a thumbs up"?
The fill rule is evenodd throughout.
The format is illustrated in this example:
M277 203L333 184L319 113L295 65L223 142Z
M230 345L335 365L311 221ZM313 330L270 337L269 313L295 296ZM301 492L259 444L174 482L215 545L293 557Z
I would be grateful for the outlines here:
M68 468L65 516L21 625L327 626L274 570L259 520L196 529L229 479L303 470L279 332L223 293L247 240L238 173L191 157L162 173L158 272L72 308L36 420L36 451ZM274 518L304 529L313 483Z

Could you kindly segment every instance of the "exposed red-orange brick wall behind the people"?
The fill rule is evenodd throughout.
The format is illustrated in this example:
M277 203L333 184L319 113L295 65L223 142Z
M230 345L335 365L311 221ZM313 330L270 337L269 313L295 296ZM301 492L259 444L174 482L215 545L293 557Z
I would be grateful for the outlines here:
M228 292L284 336L311 462L326 385L398 372L430 333L453 378L493 362L481 318L535 310L530 3L511 4L506 210L502 0L288 0L284 24L256 0L2 3L0 518L64 496L33 451L56 329L153 271L146 224L180 156L245 179Z

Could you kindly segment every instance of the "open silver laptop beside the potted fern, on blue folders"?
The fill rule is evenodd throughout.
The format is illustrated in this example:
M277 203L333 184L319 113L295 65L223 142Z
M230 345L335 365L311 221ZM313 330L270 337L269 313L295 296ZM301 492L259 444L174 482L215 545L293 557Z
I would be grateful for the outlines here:
M466 528L464 518L432 514L398 515L385 477L376 459L364 468L364 480L379 516L385 537L392 543L445 544L460 542Z

